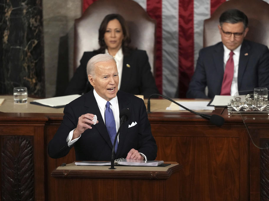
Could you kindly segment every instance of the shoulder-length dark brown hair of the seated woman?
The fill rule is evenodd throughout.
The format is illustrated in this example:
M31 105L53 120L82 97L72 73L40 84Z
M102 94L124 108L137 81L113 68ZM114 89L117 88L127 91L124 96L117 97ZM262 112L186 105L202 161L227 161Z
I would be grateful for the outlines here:
M121 28L123 31L123 40L122 40L122 45L121 45L122 52L123 52L123 55L127 55L130 52L130 50L133 49L133 47L130 45L131 39L130 39L128 27L125 23L123 16L121 16L120 14L108 14L103 19L103 21L99 27L98 40L99 40L100 48L98 50L96 50L96 52L97 53L105 53L105 49L107 48L107 45L105 44L104 35L105 35L106 29L107 29L108 22L113 20L113 19L117 19L120 22L120 25L121 25Z

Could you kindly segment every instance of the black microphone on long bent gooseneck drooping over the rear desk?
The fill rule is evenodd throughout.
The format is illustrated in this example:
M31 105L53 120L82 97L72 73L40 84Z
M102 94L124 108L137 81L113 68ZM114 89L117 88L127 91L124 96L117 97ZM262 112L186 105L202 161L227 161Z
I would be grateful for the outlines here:
M190 112L192 112L194 114L197 114L197 115L203 117L204 119L209 120L212 124L214 124L216 126L222 126L224 124L224 118L221 117L221 116L219 116L219 115L217 115L217 114L208 115L208 114L200 114L198 112L194 112L193 110L188 109L187 107L184 107L183 105L181 105L181 104L175 102L174 100L172 100L172 99L170 99L170 98L168 98L166 96L163 96L161 94L151 94L149 96L149 99L148 99L148 113L150 113L150 98L152 96L161 96L161 97L163 97L163 98L165 98L165 99L167 99L167 100L169 100L169 101L177 104L178 106L180 106L180 107L182 107L182 108L184 108L184 109L186 109L186 110L188 110L188 111L190 111Z

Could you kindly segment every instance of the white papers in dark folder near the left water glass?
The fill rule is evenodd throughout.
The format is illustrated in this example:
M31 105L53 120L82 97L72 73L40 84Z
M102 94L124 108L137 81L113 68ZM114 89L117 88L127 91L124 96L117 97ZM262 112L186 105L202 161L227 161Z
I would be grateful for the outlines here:
M68 96L59 96L53 98L38 99L30 102L31 104L42 105L46 107L61 108L76 98L80 97L79 94L68 95Z

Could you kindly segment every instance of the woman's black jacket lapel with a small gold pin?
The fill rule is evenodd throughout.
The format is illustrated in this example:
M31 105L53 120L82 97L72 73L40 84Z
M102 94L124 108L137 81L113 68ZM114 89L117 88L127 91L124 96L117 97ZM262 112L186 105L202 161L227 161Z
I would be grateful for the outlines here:
M123 57L123 67L122 67L122 76L121 76L121 83L120 83L120 90L125 91L126 86L130 83L132 69L134 65L131 62L130 56Z

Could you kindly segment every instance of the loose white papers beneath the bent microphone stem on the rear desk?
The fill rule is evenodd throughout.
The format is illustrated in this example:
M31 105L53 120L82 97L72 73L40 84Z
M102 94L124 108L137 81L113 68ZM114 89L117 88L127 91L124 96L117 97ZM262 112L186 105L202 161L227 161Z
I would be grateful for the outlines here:
M191 110L214 110L214 107L207 106L209 101L177 101L177 103L187 107ZM175 103L171 103L166 110L185 110L184 108L178 106Z

